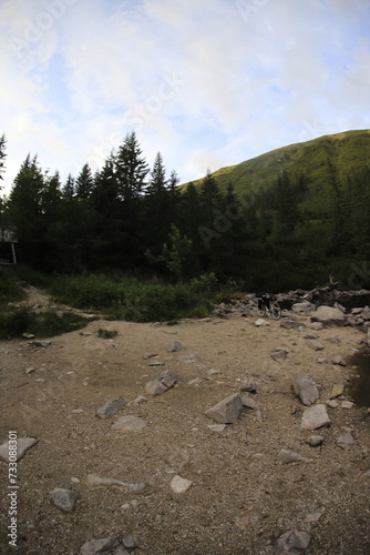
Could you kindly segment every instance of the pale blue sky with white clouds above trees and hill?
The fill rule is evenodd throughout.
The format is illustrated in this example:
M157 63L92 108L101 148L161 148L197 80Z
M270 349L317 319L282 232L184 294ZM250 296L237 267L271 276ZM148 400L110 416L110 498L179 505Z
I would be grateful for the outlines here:
M181 182L370 128L369 0L0 0L2 193L135 131Z

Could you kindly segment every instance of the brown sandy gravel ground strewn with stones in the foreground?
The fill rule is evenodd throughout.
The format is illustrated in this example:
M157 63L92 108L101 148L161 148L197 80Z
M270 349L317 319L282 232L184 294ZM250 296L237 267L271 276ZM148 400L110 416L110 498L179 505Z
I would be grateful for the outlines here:
M0 343L0 443L10 431L37 438L18 462L18 547L0 462L1 554L370 553L370 414L350 402L363 327L224 316L93 321L44 346ZM292 319L304 325L281 326ZM168 370L175 385L151 395L147 383ZM292 391L305 375L330 420L319 430L302 427L308 405ZM235 394L244 406L233 424L220 422L223 407L217 422L205 414ZM117 398L126 403L106 415ZM125 430L124 416L143 427ZM86 545L103 538L105 548Z

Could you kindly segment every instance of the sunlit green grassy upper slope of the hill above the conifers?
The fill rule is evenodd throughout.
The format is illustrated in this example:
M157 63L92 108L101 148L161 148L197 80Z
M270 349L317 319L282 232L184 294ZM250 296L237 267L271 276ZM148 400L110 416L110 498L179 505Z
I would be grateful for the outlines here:
M289 175L304 174L308 178L309 191L314 193L305 201L305 208L310 209L310 203L320 202L328 159L342 178L359 165L370 162L370 130L347 131L282 147L239 164L222 168L214 172L213 176L223 191L232 182L235 191L240 194L249 188L255 190L261 184L273 182L284 170ZM194 183L201 182L202 179ZM186 185L187 183L183 186ZM318 199L315 193L319 193ZM312 208L316 210L317 206Z

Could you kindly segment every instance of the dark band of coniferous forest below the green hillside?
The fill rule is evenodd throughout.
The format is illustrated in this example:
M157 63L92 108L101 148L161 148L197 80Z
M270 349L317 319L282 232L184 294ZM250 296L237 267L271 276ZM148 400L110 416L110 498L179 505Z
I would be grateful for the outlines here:
M6 147L2 137L1 173ZM45 273L119 271L168 283L214 273L244 291L311 289L332 275L367 286L370 167L359 155L343 169L329 150L315 183L308 161L251 176L250 186L245 176L241 189L233 172L179 185L160 152L148 167L135 132L100 171L86 163L65 182L29 154L1 200L0 228L17 230L19 263Z

